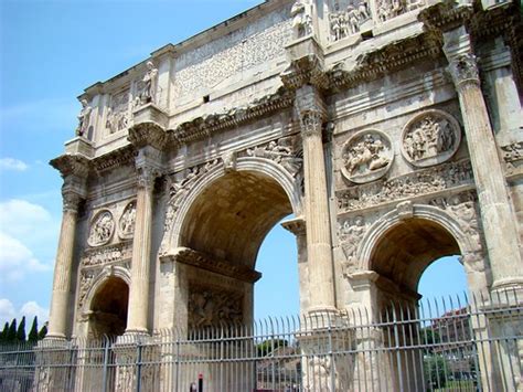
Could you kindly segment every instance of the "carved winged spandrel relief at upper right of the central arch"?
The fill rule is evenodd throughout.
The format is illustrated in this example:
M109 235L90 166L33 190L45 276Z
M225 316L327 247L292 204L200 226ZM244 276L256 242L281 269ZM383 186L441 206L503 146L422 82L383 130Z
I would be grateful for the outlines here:
M295 152L286 141L289 141L289 139L273 140L266 146L249 148L247 149L247 156L270 159L281 165L292 177L296 177L303 163L302 151Z

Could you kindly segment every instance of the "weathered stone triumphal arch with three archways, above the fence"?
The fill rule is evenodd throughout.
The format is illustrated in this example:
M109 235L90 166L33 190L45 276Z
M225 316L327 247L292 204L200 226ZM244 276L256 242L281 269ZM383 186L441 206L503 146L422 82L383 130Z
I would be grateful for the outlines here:
M523 287L516 2L268 0L79 96L50 336L250 322L284 216L302 314Z

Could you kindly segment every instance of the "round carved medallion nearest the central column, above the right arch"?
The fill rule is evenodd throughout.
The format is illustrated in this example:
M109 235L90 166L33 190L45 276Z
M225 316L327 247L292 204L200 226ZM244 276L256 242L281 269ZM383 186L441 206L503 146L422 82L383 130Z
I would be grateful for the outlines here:
M355 183L364 183L383 177L394 159L391 139L376 129L354 134L342 149L343 176Z

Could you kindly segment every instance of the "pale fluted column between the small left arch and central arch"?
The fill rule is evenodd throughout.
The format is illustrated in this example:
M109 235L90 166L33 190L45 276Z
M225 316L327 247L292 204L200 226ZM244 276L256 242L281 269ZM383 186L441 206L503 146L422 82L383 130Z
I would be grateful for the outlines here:
M154 178L152 170L141 169L138 179L127 333L147 333L148 331Z

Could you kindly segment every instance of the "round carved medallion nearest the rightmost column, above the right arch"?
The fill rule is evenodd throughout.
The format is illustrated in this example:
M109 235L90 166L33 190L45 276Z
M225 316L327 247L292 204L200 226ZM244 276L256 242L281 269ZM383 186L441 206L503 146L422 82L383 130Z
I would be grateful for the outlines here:
M427 110L412 118L402 136L402 153L414 166L445 162L461 142L459 123L448 113Z

